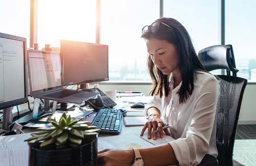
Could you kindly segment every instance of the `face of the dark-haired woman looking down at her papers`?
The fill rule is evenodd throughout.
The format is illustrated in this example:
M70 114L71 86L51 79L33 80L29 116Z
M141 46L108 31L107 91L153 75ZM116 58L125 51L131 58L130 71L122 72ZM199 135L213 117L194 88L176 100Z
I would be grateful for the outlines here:
M146 47L153 63L163 74L170 74L178 69L179 54L175 45L152 38L146 40Z

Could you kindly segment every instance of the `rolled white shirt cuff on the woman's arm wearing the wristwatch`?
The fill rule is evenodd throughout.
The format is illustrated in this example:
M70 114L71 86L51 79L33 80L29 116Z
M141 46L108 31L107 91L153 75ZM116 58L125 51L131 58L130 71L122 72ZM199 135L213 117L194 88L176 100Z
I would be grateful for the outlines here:
M190 165L190 154L187 143L184 139L177 139L172 142L169 142L170 146L172 146L176 159L179 162L179 165Z

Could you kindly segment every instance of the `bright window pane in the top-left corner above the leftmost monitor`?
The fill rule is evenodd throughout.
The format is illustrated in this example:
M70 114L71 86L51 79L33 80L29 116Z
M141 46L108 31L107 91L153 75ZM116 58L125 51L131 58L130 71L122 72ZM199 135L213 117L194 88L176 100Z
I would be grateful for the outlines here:
M0 32L27 38L30 36L30 0L0 2Z

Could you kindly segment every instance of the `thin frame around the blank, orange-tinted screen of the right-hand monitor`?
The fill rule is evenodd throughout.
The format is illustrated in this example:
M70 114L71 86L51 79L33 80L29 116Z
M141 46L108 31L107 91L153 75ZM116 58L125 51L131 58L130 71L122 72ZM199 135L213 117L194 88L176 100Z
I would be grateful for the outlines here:
M62 49L61 45L62 42L74 42L74 43L82 43L82 44L88 44L88 45L101 45L101 46L106 46L107 49L107 66L108 66L108 76L106 78L100 78L100 79L89 79L89 80L83 80L80 82L64 82L63 81L63 73L61 72L61 81L63 86L70 86L70 85L80 85L80 84L87 84L87 83L92 83L92 82L101 82L101 81L108 81L109 80L109 45L106 44L96 44L96 43L88 43L88 42L80 42L80 41L71 41L71 40L60 40L60 60L61 60L61 66L63 64L63 58L62 58ZM62 70L61 70L62 71Z

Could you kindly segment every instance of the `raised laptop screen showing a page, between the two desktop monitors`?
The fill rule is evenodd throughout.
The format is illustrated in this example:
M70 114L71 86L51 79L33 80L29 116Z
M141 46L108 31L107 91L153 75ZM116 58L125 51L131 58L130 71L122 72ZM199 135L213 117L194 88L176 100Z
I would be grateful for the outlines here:
M28 50L30 93L61 88L59 52Z

